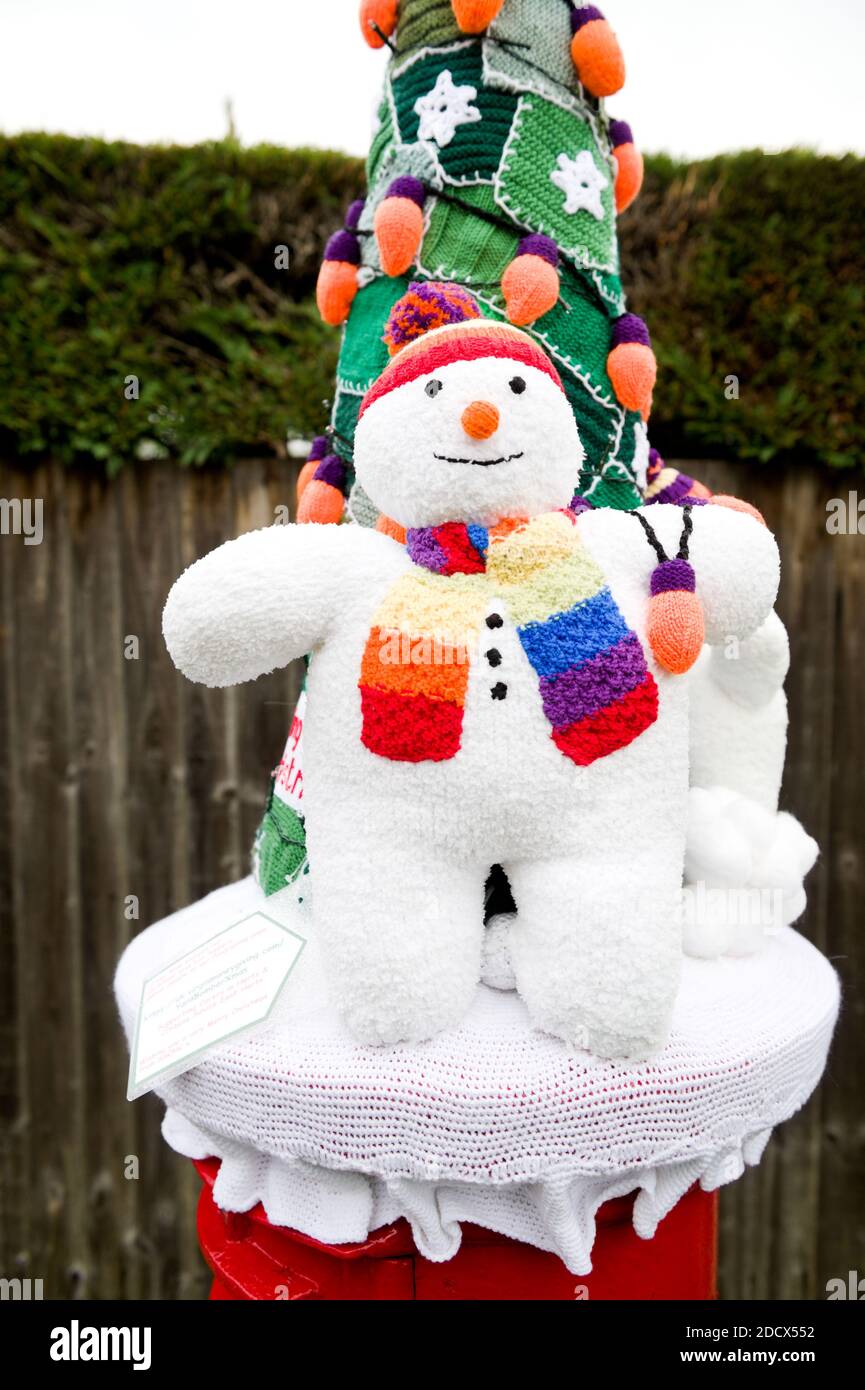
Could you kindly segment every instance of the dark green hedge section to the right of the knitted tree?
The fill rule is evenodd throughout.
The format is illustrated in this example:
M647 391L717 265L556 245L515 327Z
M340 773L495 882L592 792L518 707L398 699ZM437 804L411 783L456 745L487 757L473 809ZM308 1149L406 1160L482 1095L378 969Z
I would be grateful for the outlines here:
M865 160L759 150L654 158L622 264L661 374L663 449L865 456ZM738 400L725 378L738 378Z

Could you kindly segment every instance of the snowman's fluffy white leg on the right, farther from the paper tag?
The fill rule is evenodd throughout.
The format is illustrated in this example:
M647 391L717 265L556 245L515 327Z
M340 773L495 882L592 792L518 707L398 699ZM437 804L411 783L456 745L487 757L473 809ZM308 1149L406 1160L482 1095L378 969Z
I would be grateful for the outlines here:
M516 983L535 1027L598 1056L659 1051L681 965L679 876L627 842L591 862L505 867Z

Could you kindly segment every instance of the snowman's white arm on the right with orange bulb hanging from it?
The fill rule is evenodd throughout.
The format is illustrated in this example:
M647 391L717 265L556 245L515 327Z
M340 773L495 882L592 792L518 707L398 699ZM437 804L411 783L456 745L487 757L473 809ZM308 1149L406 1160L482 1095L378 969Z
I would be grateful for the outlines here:
M642 514L666 555L677 555L683 509L655 503L644 507ZM697 575L706 642L715 646L730 637L750 637L768 619L777 594L780 562L775 537L754 517L730 507L693 507L691 518L688 556ZM584 512L580 531L611 578L630 581L637 594L648 595L658 557L633 513Z

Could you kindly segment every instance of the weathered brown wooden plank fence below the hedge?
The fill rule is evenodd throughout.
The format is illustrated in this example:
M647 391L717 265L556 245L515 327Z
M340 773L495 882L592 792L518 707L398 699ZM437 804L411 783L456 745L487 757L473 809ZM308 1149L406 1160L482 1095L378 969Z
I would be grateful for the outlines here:
M722 1291L823 1297L827 1277L865 1272L865 539L826 531L827 499L850 485L837 473L693 471L748 496L782 542L783 803L823 851L800 926L846 991L818 1095L723 1194ZM197 1180L161 1141L159 1102L125 1101L111 979L140 927L248 869L296 673L193 687L160 614L175 575L271 523L292 482L273 460L136 466L114 482L0 466L0 498L45 505L40 545L0 535L0 1276L43 1279L46 1297L207 1290Z

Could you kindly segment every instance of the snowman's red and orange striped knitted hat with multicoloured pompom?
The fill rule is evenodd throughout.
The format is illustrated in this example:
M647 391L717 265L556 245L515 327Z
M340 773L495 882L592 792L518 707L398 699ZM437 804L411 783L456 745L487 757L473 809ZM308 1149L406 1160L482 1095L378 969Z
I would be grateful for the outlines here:
M528 334L513 324L481 318L477 300L460 285L410 285L394 304L385 331L394 360L373 382L360 404L359 418L389 391L438 371L452 361L508 357L535 367L565 391L552 361Z

